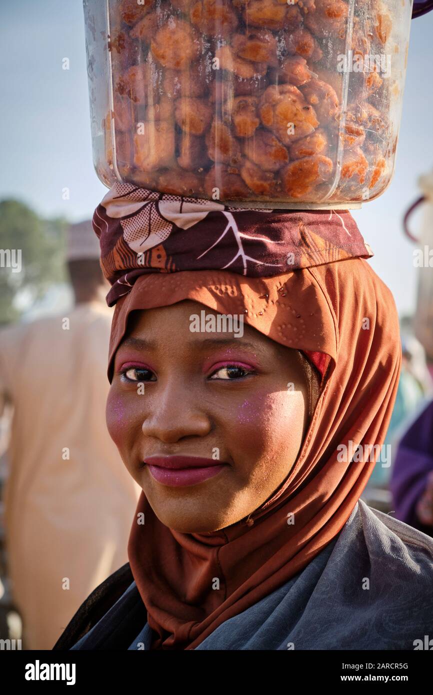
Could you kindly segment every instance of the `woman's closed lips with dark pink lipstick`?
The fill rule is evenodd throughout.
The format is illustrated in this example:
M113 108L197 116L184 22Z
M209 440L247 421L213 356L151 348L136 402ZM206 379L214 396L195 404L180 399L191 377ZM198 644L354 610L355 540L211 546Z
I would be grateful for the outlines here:
M225 463L195 456L152 456L145 460L149 473L163 485L196 485L217 475Z

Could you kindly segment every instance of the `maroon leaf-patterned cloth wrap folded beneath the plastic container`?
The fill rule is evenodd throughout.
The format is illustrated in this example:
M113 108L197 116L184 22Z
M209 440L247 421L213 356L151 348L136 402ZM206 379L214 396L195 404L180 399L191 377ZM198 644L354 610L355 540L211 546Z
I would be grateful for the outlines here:
M101 268L112 285L108 306L129 294L142 275L229 270L264 278L373 256L348 211L230 208L129 183L116 183L111 188L95 210L93 227L101 245ZM132 311L135 297L136 293L124 305L124 312ZM251 322L247 316L245 320ZM252 325L258 327L254 322ZM108 364L110 381L113 354L121 337L118 329L115 313ZM323 375L326 357L315 354L316 350L303 352Z

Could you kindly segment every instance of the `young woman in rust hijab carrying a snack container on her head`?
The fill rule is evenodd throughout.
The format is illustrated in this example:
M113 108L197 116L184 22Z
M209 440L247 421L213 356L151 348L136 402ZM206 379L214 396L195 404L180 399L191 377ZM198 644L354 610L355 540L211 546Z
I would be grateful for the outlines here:
M388 461L401 350L350 214L175 216L147 194L115 187L95 213L116 302L107 425L142 487L129 563L54 648L416 648L433 541L359 500ZM173 226L140 268L156 214ZM221 239L240 265L197 268Z

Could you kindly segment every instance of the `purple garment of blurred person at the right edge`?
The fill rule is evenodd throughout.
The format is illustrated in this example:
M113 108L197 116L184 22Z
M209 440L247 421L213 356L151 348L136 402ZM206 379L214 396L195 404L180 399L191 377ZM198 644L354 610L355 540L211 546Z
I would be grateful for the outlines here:
M400 439L389 485L395 518L433 536L433 526L421 523L415 511L430 471L433 471L433 400Z

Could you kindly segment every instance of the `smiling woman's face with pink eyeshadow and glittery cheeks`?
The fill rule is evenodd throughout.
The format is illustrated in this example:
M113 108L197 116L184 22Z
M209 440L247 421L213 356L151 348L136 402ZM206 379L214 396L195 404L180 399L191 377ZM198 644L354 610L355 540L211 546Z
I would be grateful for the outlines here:
M192 332L190 317L203 310L218 316L190 300L132 313L106 410L154 513L185 533L224 528L260 507L291 471L309 424L300 353L246 324L241 337L236 325Z

